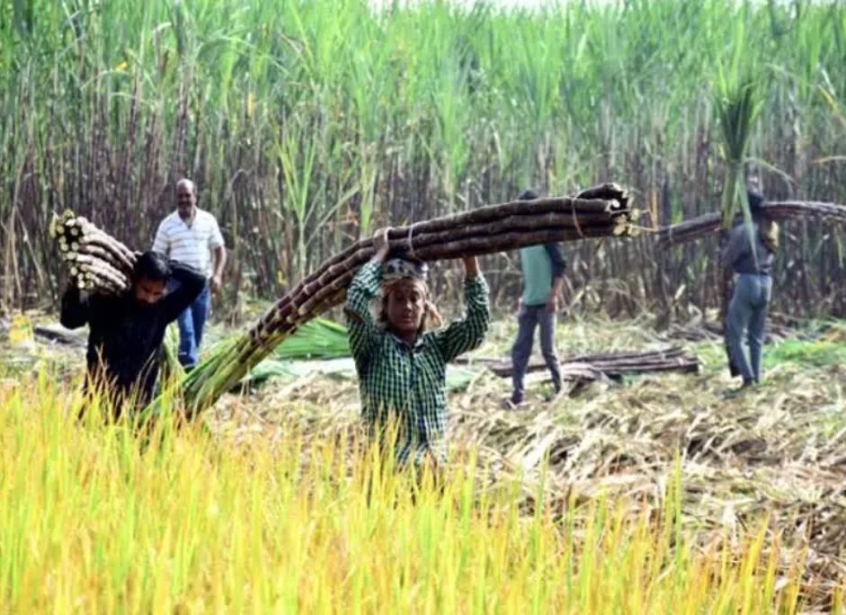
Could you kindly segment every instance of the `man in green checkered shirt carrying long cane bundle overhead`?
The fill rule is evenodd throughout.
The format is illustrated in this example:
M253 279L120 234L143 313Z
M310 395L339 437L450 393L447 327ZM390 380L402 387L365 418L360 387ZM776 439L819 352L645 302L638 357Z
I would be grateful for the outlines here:
M397 465L429 457L446 460L446 369L476 348L490 325L485 278L475 257L464 259L467 315L446 328L428 300L426 264L387 260L387 229L374 238L376 254L347 290L350 346L359 374L361 410L371 437L393 447ZM387 442L385 429L396 428Z

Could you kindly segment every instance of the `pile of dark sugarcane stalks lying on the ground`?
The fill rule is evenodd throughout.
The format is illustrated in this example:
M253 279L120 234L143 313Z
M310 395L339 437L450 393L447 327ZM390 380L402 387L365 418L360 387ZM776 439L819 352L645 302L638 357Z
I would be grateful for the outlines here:
M609 352L603 354L582 354L566 357L560 362L562 376L570 375L571 379L582 379L582 372L590 374L600 372L611 378L619 379L626 375L655 373L663 371L678 371L681 373L696 373L699 371L699 360L678 347L660 351L647 352ZM569 370L568 368L583 368ZM511 361L498 361L487 365L487 368L497 376L508 378L513 373ZM531 361L528 370L546 370L543 361ZM588 377L587 379L594 379Z

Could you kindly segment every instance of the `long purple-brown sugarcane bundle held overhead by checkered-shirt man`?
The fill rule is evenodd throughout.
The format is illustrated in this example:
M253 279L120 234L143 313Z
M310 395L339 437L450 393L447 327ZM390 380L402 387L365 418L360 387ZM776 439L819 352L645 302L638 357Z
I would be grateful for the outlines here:
M575 197L512 201L393 228L388 240L391 254L438 261L526 245L629 236L634 233L633 219L628 191L606 183ZM192 370L180 391L189 413L210 406L236 386L299 325L342 303L353 276L373 253L370 238L350 245L300 281L240 339Z

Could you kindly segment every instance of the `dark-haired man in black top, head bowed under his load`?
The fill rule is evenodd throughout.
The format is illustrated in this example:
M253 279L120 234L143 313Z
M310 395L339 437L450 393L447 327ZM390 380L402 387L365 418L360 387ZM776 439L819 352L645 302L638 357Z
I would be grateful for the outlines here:
M171 279L180 283L165 294ZM205 285L191 266L150 251L138 256L132 288L123 295L82 297L76 286L67 289L61 323L69 329L88 325L86 387L110 397L115 417L123 402L143 407L153 397L165 329Z

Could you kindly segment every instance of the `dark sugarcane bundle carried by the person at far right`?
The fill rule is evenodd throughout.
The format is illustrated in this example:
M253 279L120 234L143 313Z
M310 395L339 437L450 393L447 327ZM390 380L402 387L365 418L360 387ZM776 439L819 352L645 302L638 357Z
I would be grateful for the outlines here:
M846 207L835 203L817 201L772 201L764 205L770 218L787 220L796 218L823 218L837 222L846 222ZM743 218L737 216L735 223ZM720 214L710 213L698 218L691 218L679 224L662 227L658 240L662 245L679 245L696 241L702 237L714 235L721 228Z

